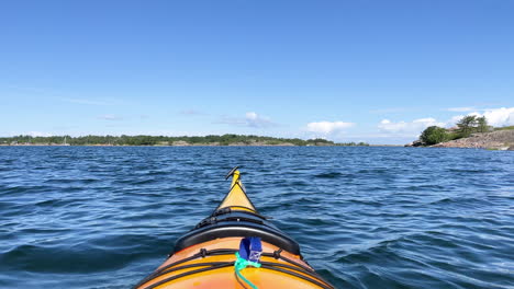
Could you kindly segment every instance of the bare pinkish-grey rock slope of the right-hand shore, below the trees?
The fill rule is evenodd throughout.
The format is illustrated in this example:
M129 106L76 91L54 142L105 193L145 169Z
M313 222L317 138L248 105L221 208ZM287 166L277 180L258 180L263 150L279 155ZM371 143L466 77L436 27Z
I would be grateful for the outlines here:
M420 140L405 144L405 147L422 147ZM496 130L492 132L472 134L468 138L461 138L440 142L432 148L470 148L488 150L514 150L514 130Z

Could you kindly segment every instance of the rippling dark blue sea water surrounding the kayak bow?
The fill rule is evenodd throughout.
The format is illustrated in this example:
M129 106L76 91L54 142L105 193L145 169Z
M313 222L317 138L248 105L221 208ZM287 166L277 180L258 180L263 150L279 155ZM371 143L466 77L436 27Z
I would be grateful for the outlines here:
M337 288L514 288L514 152L0 147L0 288L128 288L248 195Z

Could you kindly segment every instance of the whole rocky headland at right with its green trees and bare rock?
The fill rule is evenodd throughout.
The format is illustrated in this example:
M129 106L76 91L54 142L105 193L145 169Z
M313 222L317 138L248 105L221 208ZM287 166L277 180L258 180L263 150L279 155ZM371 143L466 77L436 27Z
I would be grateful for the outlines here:
M427 127L420 139L405 147L514 150L514 126L492 127L484 116L468 115L451 128Z

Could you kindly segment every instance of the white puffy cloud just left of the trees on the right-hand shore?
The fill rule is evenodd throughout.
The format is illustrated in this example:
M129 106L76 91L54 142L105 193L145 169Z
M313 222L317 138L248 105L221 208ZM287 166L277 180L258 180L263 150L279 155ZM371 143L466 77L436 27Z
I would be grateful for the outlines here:
M418 118L412 122L391 122L389 119L383 119L378 125L380 131L391 135L402 135L402 136L417 136L422 130L429 126L445 126L444 123L437 122L435 118Z

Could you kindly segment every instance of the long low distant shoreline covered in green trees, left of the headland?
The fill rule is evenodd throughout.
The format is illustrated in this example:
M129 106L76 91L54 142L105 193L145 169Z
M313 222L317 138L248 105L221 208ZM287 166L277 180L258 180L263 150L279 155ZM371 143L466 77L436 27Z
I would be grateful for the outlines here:
M166 137L166 136L51 136L0 137L0 146L241 146L241 147L368 147L367 142L334 142L326 139L273 138L253 135L222 135L204 137Z

